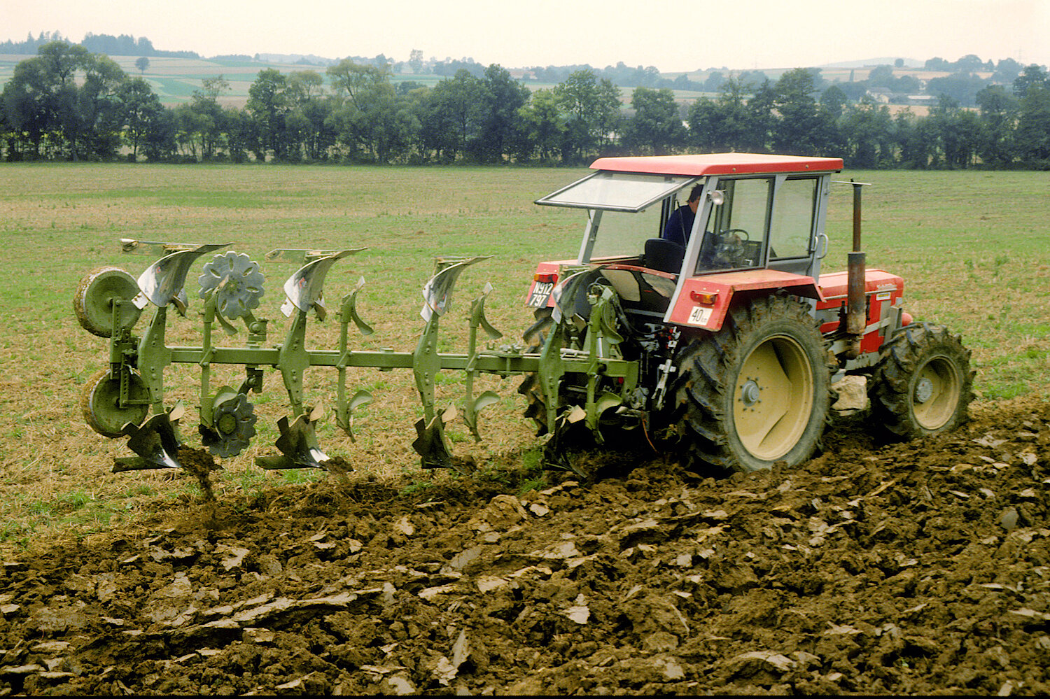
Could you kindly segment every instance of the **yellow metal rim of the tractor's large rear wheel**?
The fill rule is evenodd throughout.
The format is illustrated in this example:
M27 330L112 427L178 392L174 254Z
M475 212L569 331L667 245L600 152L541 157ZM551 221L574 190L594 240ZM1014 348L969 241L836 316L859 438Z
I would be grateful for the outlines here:
M791 337L771 337L744 359L733 390L733 421L743 447L775 461L792 450L813 415L813 365Z

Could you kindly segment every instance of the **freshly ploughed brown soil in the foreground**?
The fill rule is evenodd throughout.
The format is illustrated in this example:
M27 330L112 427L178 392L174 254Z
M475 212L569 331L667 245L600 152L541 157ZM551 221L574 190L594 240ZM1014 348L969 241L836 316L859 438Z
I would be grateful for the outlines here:
M720 481L621 456L202 497L8 558L0 691L1046 694L1050 406L971 412L903 445L840 419Z

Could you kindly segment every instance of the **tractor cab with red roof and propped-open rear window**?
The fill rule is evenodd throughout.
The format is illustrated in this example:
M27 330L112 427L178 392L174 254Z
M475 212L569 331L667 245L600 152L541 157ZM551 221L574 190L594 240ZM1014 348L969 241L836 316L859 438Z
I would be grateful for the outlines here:
M819 297L814 280L826 252L827 192L841 160L712 153L603 157L591 168L537 200L583 209L587 225L575 260L541 263L529 305L552 303L558 279L584 267L615 289L626 310L687 325L705 326L695 321L719 315L694 312L691 295L719 291L707 282L698 288L702 279L729 284L727 302L755 283L804 287L795 293ZM665 237L665 228L696 186L702 193L692 227L673 236L684 237L682 246Z

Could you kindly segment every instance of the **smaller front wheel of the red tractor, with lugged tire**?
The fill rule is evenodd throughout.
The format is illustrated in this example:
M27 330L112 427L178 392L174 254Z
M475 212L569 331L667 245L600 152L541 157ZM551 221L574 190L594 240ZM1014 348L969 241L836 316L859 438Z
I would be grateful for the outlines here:
M868 388L873 417L891 440L947 432L967 419L970 352L943 325L915 323L886 343Z

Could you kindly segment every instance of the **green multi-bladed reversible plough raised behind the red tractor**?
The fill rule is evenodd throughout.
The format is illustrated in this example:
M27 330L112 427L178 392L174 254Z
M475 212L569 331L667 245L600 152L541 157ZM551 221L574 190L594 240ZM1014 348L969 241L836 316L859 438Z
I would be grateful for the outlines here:
M554 436L552 443L555 445L564 425L582 420L601 442L600 412L620 405L637 382L637 366L624 360L616 351L620 338L614 323L609 320L615 301L611 294L601 290L589 297L593 310L586 321L587 346L582 350L564 348L563 327L570 324L562 322L555 322L540 352L524 352L517 343L496 346L502 334L485 318L485 299L492 290L491 284L486 284L470 304L467 351L463 354L438 352L440 319L450 306L460 274L486 257L436 260L434 276L423 287L420 315L424 325L415 351L352 348L351 326L361 336L373 334L373 329L357 310L363 277L342 296L335 312L340 326L338 346L324 350L307 346L307 327L314 322L310 317L318 322L326 319L329 311L323 288L330 270L337 261L363 248L338 251L280 249L266 254L266 262L299 264L284 283L281 312L291 320L287 334L282 342L268 345L268 320L256 316L265 294L266 277L258 262L248 255L219 252L232 243L185 245L132 239L120 242L125 253L151 255L156 261L138 279L116 267L96 270L81 280L74 299L81 325L109 339L108 366L84 387L81 402L84 417L92 429L109 438L127 437L128 447L136 454L114 459L114 472L184 467L178 451L183 446L180 423L186 410L181 402L165 403L164 374L174 363L200 366L197 431L211 454L223 459L239 454L256 435L257 418L249 396L264 390L266 368L280 374L291 415L278 421L280 437L276 447L279 453L255 459L256 465L267 469L345 470L346 460L329 457L318 444L314 426L324 418L326 410L319 404L311 405L304 395L303 373L310 367L335 369L335 422L351 440L354 438L355 409L373 399L364 389L351 395L348 384L352 370L412 369L423 405L422 418L416 423L418 436L413 444L421 457L422 467L459 470L465 466L448 448L445 424L461 414L475 439L480 440L479 412L499 400L490 390L474 395L474 379L479 374L507 377L534 373L548 396L558 395L566 375L579 375L575 382L586 385L583 406L573 406L571 410L559 409L553 402L546 406L546 426ZM203 266L198 291L194 295L203 301L201 343L168 345L165 336L169 322L188 316L190 300L186 283L190 270L209 254L212 256ZM152 306L152 317L136 334L136 325L147 305ZM172 309L173 314L170 313ZM558 309L554 315L555 320L561 320ZM575 320L581 322L579 318ZM479 342L479 331L484 334L482 342ZM217 337L233 338L242 332L246 339L239 346L219 345L216 341ZM244 366L244 382L239 386L213 387L211 370L215 365ZM453 406L437 407L435 378L442 370L466 372L461 410ZM597 389L600 376L622 385L621 395Z

